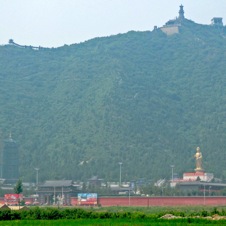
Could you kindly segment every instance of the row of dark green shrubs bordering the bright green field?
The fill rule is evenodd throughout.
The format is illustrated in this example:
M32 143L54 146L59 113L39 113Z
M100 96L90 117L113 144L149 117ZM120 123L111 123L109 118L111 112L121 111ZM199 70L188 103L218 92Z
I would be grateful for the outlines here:
M57 220L57 219L159 219L161 216L170 213L175 216L193 217L193 216L211 216L213 214L226 215L225 211L218 211L214 208L208 212L202 210L187 216L184 212L168 211L156 214L145 214L143 212L109 212L109 211L92 211L81 208L31 208L29 210L13 211L0 210L0 220Z

